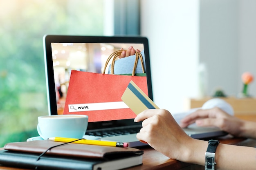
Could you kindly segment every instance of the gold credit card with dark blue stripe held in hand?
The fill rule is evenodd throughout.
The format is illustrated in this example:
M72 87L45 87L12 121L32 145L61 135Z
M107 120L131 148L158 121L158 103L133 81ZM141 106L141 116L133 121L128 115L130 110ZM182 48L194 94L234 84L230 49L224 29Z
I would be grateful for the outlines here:
M159 109L133 81L130 81L121 99L136 115L147 109Z

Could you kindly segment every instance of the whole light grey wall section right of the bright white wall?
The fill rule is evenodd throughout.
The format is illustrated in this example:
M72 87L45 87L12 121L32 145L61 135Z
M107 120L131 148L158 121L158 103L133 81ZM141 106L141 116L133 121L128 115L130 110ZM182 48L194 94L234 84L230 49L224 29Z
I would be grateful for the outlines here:
M220 87L237 96L241 75L256 76L255 30L255 0L200 0L200 62L207 63L208 95ZM255 82L249 93L255 97Z

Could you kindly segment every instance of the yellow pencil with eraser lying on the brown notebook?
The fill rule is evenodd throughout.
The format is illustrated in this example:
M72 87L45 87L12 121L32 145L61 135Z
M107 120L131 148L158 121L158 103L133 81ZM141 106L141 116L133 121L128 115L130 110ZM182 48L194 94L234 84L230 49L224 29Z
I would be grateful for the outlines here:
M99 146L115 146L115 147L128 147L128 143L116 142L116 141L97 141L97 140L87 140L87 139L75 139L75 138L66 138L66 137L49 137L51 141L58 142L72 142L75 144L87 144L87 145L99 145ZM78 141L75 141L78 140Z

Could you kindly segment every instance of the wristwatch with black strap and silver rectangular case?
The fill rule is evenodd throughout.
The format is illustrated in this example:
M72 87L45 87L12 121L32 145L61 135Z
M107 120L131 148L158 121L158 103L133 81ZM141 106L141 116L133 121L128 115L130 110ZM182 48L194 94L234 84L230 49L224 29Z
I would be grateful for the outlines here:
M215 170L215 151L220 141L209 140L207 151L205 152L205 170Z

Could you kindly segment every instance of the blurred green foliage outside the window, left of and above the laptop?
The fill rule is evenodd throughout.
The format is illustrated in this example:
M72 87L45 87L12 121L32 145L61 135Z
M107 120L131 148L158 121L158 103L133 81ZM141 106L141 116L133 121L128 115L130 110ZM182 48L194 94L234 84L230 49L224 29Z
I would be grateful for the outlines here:
M103 35L103 0L0 0L0 147L47 115L43 35Z

